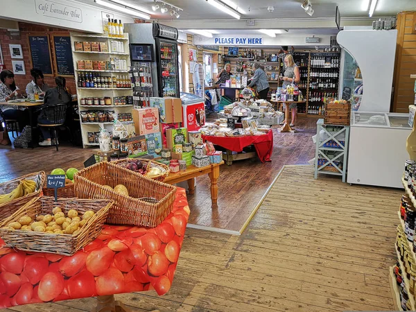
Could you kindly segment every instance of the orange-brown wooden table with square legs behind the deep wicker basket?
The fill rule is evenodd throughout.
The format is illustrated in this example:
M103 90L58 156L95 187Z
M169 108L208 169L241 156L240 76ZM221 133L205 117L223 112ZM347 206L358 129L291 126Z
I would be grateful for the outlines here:
M220 162L219 164L210 164L209 166L202 168L196 166L188 166L186 171L169 173L164 182L168 184L176 184L179 182L187 181L189 193L193 194L195 193L195 181L193 178L208 174L209 179L211 179L211 201L214 205L216 205L218 199L217 180L220 176L220 165L222 164L224 164L224 162Z

